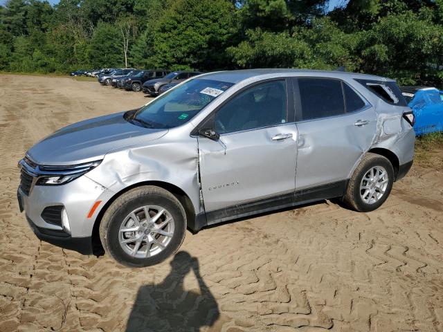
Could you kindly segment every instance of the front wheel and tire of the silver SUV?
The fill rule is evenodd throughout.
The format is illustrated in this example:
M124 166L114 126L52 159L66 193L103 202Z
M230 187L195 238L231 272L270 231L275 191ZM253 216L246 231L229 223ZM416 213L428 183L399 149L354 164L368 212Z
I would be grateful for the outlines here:
M149 224L145 218L145 208L149 210L148 214L152 220L161 209L165 211L158 220L154 221L154 228L149 228L149 225L147 228L142 227L143 223ZM132 219L134 215L132 212L138 210L140 212L136 212L135 218L138 219L139 226ZM166 225L161 230L159 228L155 230L155 227L161 226L162 223ZM135 228L137 230L134 230ZM122 229L134 231L127 232ZM163 236L157 232L172 236ZM105 252L119 264L132 268L152 266L164 261L177 252L185 239L185 234L186 213L179 200L167 190L152 185L136 187L119 196L109 205L100 223L100 240ZM137 243L132 239L141 237L143 239L146 237L146 240L136 247ZM128 243L122 243L124 241ZM159 242L163 243L163 248L157 244ZM149 257L145 257L147 250L150 250Z

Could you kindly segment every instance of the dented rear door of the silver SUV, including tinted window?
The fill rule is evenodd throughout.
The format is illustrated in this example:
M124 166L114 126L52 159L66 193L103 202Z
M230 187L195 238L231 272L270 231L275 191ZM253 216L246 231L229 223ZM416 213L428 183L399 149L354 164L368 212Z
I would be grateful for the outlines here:
M354 165L368 151L377 132L374 108L361 95L359 97L365 102L361 109L352 113L331 110L338 108L338 100L335 98L340 91L340 84L345 82L313 78L309 86L303 86L303 82L300 82L302 80L308 79L293 80L298 119L296 190L349 178ZM321 95L316 95L316 89L321 91ZM302 98L311 98L311 102L303 102ZM313 116L307 115L307 107L311 107L310 111L315 113Z

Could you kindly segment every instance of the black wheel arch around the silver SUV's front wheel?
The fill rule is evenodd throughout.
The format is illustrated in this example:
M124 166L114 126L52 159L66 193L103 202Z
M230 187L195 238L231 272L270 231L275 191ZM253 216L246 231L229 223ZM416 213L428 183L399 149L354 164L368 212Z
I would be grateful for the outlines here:
M92 246L93 246L93 255L103 255L104 250L102 247L102 243L100 241L100 223L102 221L103 215L109 208L109 206L118 199L121 195L125 194L125 192L128 192L129 190L132 190L136 187L141 187L143 185L155 185L156 187L161 187L165 190L168 190L171 194L173 194L183 205L183 208L186 212L186 221L189 224L189 221L196 218L195 208L192 204L192 201L188 194L184 192L180 187L177 187L177 185L172 185L172 183L163 182L163 181L143 181L139 183L134 183L132 185L129 185L128 187L123 188L123 190L120 190L120 192L117 192L114 194L114 196L109 199L105 205L103 205L100 212L98 212L98 215L96 217L96 220L94 221L93 229L92 229Z

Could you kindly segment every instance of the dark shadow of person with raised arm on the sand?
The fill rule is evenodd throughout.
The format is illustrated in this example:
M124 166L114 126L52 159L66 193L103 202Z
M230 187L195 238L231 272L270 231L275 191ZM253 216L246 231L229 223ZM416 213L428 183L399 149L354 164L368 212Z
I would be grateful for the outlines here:
M219 318L219 308L208 286L201 278L199 261L188 252L177 252L171 261L171 272L158 285L138 289L136 302L127 320L127 332L132 331L199 331L213 326ZM199 293L185 291L183 279L194 271Z

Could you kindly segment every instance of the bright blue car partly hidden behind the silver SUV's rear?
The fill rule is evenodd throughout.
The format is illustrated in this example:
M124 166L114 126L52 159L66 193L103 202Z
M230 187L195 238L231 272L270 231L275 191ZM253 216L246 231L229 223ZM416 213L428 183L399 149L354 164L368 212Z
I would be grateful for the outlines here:
M443 131L443 91L426 86L404 86L401 91L413 109L417 136Z

